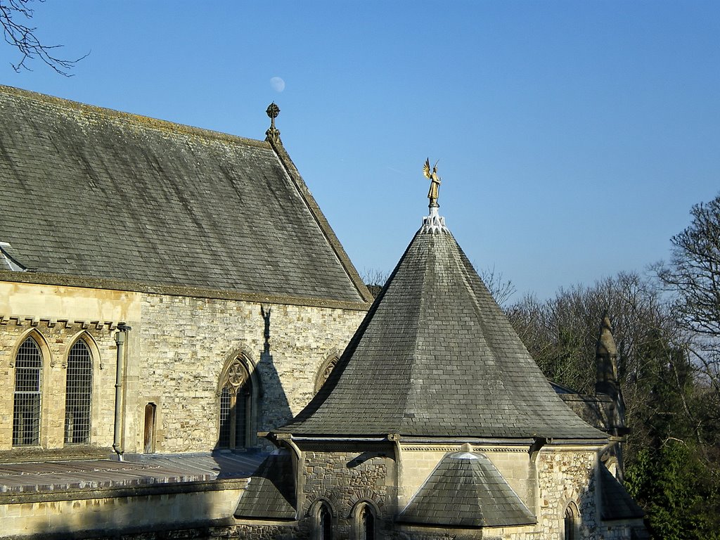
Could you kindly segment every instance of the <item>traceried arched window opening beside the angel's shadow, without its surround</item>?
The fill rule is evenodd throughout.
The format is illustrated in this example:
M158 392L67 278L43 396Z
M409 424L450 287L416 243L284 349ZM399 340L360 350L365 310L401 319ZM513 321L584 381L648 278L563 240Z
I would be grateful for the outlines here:
M220 437L217 446L236 449L248 446L251 433L253 388L242 356L225 370L220 390Z

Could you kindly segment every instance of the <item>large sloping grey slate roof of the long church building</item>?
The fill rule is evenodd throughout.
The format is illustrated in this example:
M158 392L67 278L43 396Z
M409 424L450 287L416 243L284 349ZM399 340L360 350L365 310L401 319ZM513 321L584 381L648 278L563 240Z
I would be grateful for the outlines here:
M369 299L282 145L7 86L0 116L0 242L24 268Z

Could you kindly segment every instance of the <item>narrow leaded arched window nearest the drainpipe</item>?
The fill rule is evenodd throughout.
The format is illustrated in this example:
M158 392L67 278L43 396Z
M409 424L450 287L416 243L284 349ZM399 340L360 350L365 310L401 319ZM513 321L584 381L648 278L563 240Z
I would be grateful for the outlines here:
M78 339L68 354L65 392L65 442L90 442L92 356L85 341Z

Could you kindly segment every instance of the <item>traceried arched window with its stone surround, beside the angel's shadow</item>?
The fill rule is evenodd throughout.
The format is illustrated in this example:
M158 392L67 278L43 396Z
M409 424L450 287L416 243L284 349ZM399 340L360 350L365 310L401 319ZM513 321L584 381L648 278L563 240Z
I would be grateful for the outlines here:
M255 446L261 384L257 364L247 351L228 356L216 397L217 447L235 450Z

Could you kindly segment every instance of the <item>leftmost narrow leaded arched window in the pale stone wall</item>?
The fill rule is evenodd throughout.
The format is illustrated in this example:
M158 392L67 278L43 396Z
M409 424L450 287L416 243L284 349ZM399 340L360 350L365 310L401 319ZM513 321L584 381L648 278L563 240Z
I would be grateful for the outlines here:
M42 354L32 337L22 342L15 356L15 392L12 445L40 444Z

